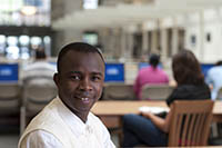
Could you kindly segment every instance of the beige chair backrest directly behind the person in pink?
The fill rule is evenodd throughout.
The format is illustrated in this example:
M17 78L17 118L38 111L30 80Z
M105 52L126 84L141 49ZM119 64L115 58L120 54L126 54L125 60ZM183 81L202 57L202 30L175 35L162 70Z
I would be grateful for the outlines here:
M169 85L144 85L141 91L141 99L162 100L172 92L173 87Z

